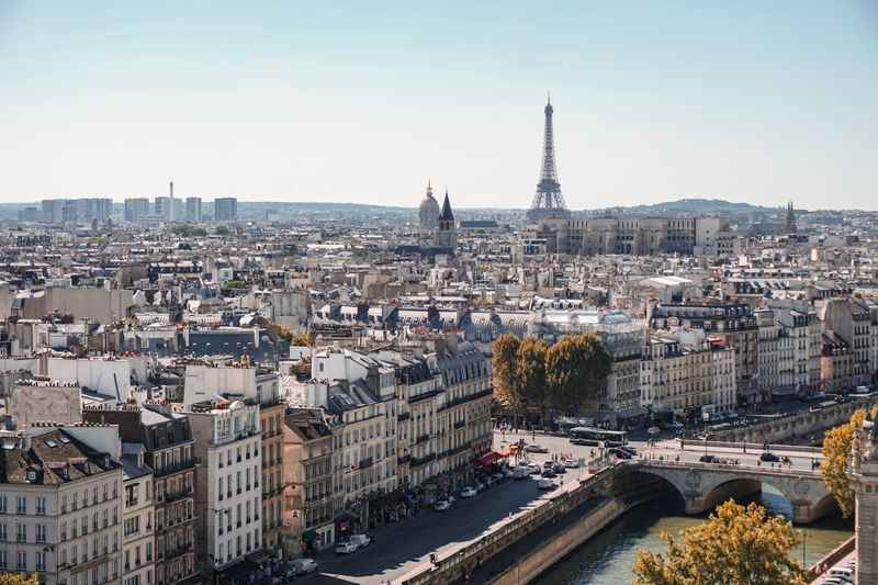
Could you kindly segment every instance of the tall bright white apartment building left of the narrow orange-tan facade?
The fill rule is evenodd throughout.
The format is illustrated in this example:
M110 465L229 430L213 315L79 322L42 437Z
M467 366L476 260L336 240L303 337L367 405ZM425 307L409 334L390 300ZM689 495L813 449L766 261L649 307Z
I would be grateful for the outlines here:
M246 577L245 558L262 548L259 403L214 398L187 415L198 462L195 560L205 575L233 583Z

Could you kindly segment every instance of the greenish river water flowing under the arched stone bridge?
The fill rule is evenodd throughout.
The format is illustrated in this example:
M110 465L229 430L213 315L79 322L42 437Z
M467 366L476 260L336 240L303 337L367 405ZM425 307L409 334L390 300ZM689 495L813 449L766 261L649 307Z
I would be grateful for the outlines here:
M770 511L790 517L789 502L777 491L764 486L755 496ZM634 551L639 548L665 551L662 532L677 535L680 530L703 521L703 518L685 516L678 498L667 495L639 506L607 527L595 538L579 547L570 556L544 573L538 585L622 585L632 578ZM853 535L853 521L841 516L823 518L812 525L797 527L804 530L804 551L799 545L791 556L810 565Z

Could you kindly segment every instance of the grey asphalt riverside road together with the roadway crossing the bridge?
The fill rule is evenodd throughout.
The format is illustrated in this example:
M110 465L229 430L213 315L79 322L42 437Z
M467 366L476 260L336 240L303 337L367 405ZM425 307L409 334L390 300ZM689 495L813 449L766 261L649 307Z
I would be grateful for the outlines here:
M529 453L528 458L539 464L553 455L570 454L576 459L588 460L597 449L586 446L571 445L565 437L555 437L538 434L536 441L531 434L500 434L495 432L494 448L505 449L509 442L525 439L526 442L536 442L549 450L549 453ZM679 441L666 439L650 446L643 441L631 441L640 458L654 458L675 460L682 462L698 462L705 454L703 446L698 441L687 443L680 449ZM738 460L743 466L770 466L772 463L758 463L761 450L744 453L741 449L708 448L709 454L730 460ZM819 455L811 453L773 450L779 457L789 457L792 470L810 471L813 461L820 461ZM774 465L780 466L778 463ZM790 469L784 465L784 469ZM566 474L559 475L555 481L562 482L562 490L571 490L578 484L586 470L572 469ZM543 504L548 498L556 496L561 490L540 492L537 482L507 481L473 498L458 497L447 511L436 513L423 509L414 518L382 526L370 535L374 542L367 549L349 555L336 555L330 549L319 553L315 559L319 569L317 574L300 577L296 583L362 583L384 584L395 583L403 576L420 567L429 565L430 553L440 558L466 547L484 535L496 530L515 516Z

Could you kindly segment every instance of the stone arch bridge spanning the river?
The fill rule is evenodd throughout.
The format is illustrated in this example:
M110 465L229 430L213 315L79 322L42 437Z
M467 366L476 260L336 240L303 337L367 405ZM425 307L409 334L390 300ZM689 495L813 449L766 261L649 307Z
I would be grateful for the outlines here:
M655 475L683 496L686 514L703 514L730 497L758 493L763 484L779 491L792 505L792 521L810 524L835 509L819 472L764 466L669 461L627 461L626 466Z

